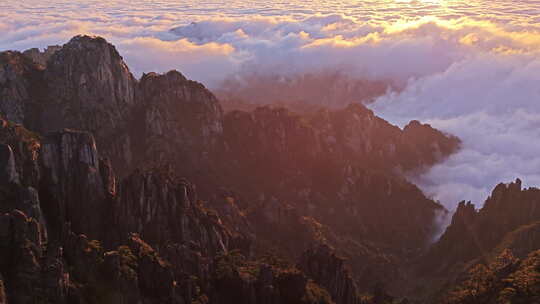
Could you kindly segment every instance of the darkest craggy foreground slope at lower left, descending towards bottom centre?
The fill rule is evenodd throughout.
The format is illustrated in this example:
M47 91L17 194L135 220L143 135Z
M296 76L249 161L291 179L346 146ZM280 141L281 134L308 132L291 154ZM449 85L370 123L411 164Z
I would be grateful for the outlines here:
M244 235L197 201L189 182L155 169L115 183L89 133L42 137L2 126L0 274L9 303L230 303L223 299L244 295L246 303L333 303L292 266L233 258L242 252L236 244L247 240L239 249L249 251L249 239L238 240ZM248 264L260 271L255 281L244 275Z

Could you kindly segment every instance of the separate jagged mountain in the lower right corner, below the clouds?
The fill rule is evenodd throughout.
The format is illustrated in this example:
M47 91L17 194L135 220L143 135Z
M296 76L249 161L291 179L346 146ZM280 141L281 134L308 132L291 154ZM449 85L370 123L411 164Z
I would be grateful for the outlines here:
M482 208L461 202L415 266L433 303L540 301L540 189L497 185ZM418 286L416 288L419 288Z

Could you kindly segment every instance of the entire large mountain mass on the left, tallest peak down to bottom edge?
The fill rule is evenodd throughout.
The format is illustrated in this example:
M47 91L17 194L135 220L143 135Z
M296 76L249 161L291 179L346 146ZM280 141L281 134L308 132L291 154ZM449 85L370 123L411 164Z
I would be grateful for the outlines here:
M224 113L89 36L0 53L0 115L9 303L389 302L447 212L403 174L459 149L361 104Z

